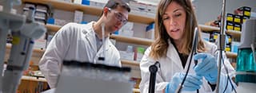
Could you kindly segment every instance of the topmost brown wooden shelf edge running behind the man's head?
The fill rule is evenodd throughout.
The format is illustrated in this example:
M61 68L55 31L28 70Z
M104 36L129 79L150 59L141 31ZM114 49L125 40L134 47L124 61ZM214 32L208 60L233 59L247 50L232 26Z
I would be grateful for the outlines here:
M100 16L102 14L102 9L97 7L79 5L79 4L74 4L70 2L62 2L58 0L22 0L22 2L47 4L47 5L53 6L55 9L67 10L71 12L73 12L74 10L81 10L85 14L91 14L96 16ZM143 24L150 24L154 22L154 17L144 17L136 14L129 14L128 21L133 21L133 22L138 22Z

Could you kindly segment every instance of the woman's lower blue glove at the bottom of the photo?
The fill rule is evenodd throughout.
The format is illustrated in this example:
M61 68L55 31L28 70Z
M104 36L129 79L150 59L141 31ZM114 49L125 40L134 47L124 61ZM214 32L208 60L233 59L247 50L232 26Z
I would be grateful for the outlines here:
M167 84L165 93L174 93L178 88L179 84L182 83L182 79L185 74L175 73L170 83ZM196 91L202 85L202 76L196 76L188 74L183 84L182 91Z

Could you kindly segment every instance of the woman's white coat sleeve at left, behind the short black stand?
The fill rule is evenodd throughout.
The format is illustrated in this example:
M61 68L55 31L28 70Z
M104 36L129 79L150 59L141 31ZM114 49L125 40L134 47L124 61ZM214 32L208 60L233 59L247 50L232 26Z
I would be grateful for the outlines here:
M149 85L150 85L149 84L150 83L149 67L151 64L155 63L155 60L151 60L149 56L150 48L146 49L146 52L144 53L144 56L142 57L142 60L140 62L142 81L139 85L139 88L141 93L148 93L149 91ZM156 76L155 93L162 93L162 90L164 90L166 88L166 85L168 84L168 82L165 82L162 79L162 76L160 76L161 74L159 70L160 69L158 69L157 76Z

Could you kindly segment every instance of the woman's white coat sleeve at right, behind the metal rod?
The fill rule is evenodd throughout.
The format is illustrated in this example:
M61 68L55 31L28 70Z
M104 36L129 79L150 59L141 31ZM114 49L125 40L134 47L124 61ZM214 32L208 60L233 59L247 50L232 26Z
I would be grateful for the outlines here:
M214 47L211 48L211 53L214 54L216 60L218 61L218 49L217 49L217 45L214 45ZM220 88L219 88L219 92L223 92L226 88L226 93L230 93L231 91L233 91L232 89L232 85L233 87L236 88L237 85L233 82L233 80L231 79L231 83L230 81L228 81L228 76L227 76L227 72L228 75L230 76L230 78L235 76L235 70L233 68L233 66L230 64L230 61L227 59L226 57L226 53L222 52L222 58L224 60L224 64L222 64L222 73L221 73L221 79L220 79ZM226 68L225 68L226 67ZM227 72L226 72L227 71ZM227 87L226 87L227 86Z

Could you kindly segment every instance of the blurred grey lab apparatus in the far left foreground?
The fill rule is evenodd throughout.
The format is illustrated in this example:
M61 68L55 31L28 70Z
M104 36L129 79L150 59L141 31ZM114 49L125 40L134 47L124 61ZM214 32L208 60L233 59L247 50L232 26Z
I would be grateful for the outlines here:
M21 4L20 0L4 0L1 3L3 10L0 12L0 92L15 93L22 72L29 67L34 40L46 33L46 28L34 21L34 8L30 8L27 17L10 13L13 5ZM13 41L6 71L2 72L8 32L11 32Z

